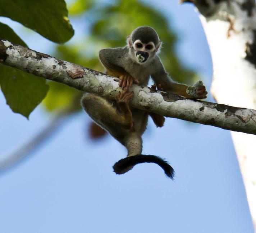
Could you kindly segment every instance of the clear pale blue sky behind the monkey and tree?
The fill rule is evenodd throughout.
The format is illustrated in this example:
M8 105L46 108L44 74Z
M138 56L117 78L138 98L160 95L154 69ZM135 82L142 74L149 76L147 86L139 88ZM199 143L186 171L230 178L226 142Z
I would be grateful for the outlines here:
M156 7L179 33L180 58L209 89L212 64L197 13L176 0L160 2ZM30 48L51 54L51 42L0 21L12 25ZM76 37L81 28L74 28ZM12 113L3 94L0 113L0 158L50 121L40 106L29 121ZM92 142L84 134L88 121L83 112L72 116L31 156L0 174L1 232L253 232L227 130L171 118L156 129L150 120L143 153L170 161L176 172L172 181L154 164L115 175L112 166L126 155L125 148L110 136Z

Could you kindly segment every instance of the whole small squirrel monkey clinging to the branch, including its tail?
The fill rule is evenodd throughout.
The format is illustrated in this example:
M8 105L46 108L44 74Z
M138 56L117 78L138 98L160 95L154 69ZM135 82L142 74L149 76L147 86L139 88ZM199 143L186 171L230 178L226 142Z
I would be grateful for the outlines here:
M141 154L141 136L146 130L148 115L157 127L163 126L164 116L129 106L129 100L134 95L133 92L129 92L129 88L133 83L147 86L151 77L156 86L166 92L196 99L206 98L205 86L195 87L191 96L186 92L187 85L174 82L169 77L157 56L160 47L161 41L156 31L151 27L142 26L133 30L127 37L127 46L100 50L99 58L106 68L106 73L120 79L122 93L119 92L115 96L116 101L108 101L87 93L81 99L81 104L88 115L127 148L127 157L113 166L116 174L123 174L136 164L146 162L156 163L163 168L168 177L174 177L173 168L163 158Z

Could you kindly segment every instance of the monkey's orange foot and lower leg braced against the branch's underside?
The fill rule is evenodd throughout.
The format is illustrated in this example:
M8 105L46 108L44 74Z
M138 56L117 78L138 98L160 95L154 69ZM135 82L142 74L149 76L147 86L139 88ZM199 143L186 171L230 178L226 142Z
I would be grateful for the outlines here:
M133 130L133 121L132 121L132 112L129 107L129 101L134 96L134 92L129 92L128 89L125 89L122 91L122 93L119 91L118 94L116 94L115 99L116 102L122 112L122 117L124 120L124 128L127 128L129 130Z

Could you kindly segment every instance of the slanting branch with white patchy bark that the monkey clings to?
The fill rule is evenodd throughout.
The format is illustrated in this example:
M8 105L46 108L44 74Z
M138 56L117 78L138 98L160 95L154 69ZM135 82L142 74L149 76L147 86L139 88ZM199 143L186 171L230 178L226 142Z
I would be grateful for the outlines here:
M0 63L52 81L115 99L119 79L62 61L29 48L0 41ZM256 110L193 100L149 87L134 85L131 106L166 117L256 134Z

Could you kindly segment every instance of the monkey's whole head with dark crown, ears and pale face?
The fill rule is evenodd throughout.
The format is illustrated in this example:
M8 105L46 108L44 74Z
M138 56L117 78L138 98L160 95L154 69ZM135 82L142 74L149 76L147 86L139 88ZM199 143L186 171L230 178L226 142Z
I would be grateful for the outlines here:
M133 30L127 37L129 54L132 59L140 64L148 63L154 58L161 46L161 41L156 31L148 26L141 26Z

